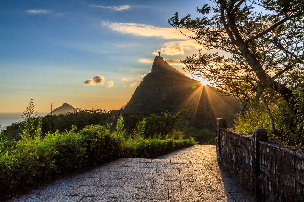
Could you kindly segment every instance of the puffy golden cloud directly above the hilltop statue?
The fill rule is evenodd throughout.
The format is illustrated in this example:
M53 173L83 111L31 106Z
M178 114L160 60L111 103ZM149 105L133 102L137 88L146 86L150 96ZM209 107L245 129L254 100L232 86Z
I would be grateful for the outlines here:
M161 49L154 51L153 55L158 55L158 51L161 51L161 54L166 56L175 56L175 55L185 55L186 49L190 48L202 48L195 40L188 39L186 41L172 41L164 44L166 47L162 47Z

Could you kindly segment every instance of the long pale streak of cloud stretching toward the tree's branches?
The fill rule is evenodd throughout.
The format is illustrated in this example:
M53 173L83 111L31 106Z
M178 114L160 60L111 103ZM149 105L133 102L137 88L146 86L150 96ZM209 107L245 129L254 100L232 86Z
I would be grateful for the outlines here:
M122 22L102 22L102 25L109 27L113 31L122 34L132 34L136 36L158 37L162 39L188 39L175 28L155 27L152 25L137 24L137 23L122 23ZM183 32L191 35L187 29L182 29Z

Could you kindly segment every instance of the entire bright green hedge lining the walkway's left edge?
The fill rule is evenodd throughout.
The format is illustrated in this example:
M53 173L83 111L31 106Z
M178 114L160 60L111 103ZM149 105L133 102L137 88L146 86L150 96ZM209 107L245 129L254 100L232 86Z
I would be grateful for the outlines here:
M116 157L151 158L195 144L194 138L144 138L145 119L127 134L123 122L118 116L114 126L89 125L78 132L72 126L69 131L43 137L21 134L18 141L0 133L0 196ZM35 127L41 130L39 124Z

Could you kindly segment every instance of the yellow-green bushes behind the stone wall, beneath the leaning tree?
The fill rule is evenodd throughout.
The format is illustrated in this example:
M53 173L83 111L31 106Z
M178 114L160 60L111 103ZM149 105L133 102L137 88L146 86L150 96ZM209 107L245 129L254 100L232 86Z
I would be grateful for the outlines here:
M301 96L301 94L297 95L299 111L303 109L301 108L303 106ZM297 120L292 120L284 100L281 100L279 106L273 104L269 107L275 122L275 133L271 131L270 119L264 106L256 101L248 103L247 110L236 115L235 130L252 134L255 128L264 128L267 130L270 140L303 149L303 115L300 113L297 115ZM300 140L299 137L301 137Z

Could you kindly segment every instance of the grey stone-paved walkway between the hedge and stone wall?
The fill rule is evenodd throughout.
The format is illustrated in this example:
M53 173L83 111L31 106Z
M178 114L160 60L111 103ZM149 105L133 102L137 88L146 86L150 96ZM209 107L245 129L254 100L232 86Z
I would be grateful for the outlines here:
M73 173L9 201L251 201L216 162L216 147L195 145L156 159L120 158Z

